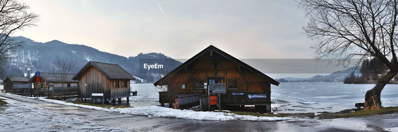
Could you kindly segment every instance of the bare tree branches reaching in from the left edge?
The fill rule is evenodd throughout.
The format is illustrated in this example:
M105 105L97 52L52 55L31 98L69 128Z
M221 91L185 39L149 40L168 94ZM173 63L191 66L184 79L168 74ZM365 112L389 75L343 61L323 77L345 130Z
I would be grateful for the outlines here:
M16 0L0 0L0 78L4 76L7 60L23 47L24 42L10 37L14 32L35 26L39 15L29 13L29 6Z

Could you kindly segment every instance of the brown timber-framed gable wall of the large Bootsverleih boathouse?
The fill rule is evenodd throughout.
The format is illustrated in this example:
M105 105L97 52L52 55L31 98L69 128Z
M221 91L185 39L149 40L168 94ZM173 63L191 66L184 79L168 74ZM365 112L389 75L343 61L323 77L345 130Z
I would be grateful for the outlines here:
M181 92L205 93L207 89L196 89L195 82L203 81L209 84L210 78L223 79L227 95L236 92L267 94L267 103L270 102L270 82L215 52L198 58L189 64L186 70L180 70L172 80L173 83L185 84L185 89L179 87ZM237 88L228 88L230 80L238 83Z

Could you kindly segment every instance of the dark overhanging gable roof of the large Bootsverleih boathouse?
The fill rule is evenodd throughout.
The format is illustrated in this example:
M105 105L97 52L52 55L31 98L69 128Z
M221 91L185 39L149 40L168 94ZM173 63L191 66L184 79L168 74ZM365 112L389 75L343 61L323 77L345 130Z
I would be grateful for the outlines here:
M195 56L193 56L192 58L190 58L189 60L187 60L186 62L184 62L183 64L181 64L180 66L178 66L176 69L172 70L170 73L166 74L166 76L164 76L163 78L160 78L160 80L158 80L157 82L153 83L155 86L160 85L159 83L164 80L165 78L170 78L171 76L173 76L173 74L177 73L180 70L183 70L186 66L188 66L189 64L191 64L192 62L194 62L195 60L197 60L198 58L200 58L201 56L205 55L207 52L217 52L220 55L224 56L225 58L232 60L233 62L235 62L236 64L242 66L243 68L248 69L249 71L257 74L258 76L260 76L261 78L264 78L265 80L271 82L271 84L278 86L279 82L277 82L276 80L270 78L269 76L263 74L262 72L260 72L259 70L253 68L252 66L249 66L248 64L240 61L239 59L235 58L234 56L231 56L229 54L227 54L226 52L214 47L213 45L210 45L209 47L207 47L206 49L202 50L201 52L199 52L198 54L196 54Z

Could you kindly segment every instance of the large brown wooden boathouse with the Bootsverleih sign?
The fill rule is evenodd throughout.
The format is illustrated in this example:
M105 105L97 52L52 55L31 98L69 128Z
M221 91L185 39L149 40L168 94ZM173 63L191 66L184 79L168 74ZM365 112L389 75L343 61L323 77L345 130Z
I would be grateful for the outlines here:
M226 89L226 93L219 98L221 108L255 105L267 113L271 112L271 85L279 85L269 76L212 45L166 74L154 85L158 87L170 83L175 84L175 87L168 89L178 91L181 97L191 94L188 96L192 98L191 102L199 101L200 97L208 98L206 88L212 94L213 88L221 85ZM163 93L159 93L160 103L167 103L162 97ZM203 96L196 96L200 93ZM179 99L178 96L176 98Z

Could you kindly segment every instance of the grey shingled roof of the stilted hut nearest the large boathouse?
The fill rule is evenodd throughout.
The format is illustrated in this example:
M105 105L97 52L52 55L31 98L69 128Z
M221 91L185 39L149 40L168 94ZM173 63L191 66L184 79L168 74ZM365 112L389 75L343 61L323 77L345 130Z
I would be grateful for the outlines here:
M83 73L86 68L89 66L94 66L98 70L105 74L109 79L130 79L135 80L133 76L131 76L126 70L121 68L117 64L109 64L109 63L102 63L102 62L93 62L89 61L72 79L78 80L78 77Z

